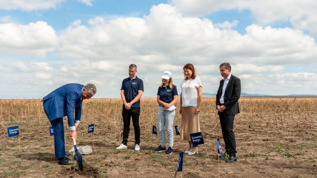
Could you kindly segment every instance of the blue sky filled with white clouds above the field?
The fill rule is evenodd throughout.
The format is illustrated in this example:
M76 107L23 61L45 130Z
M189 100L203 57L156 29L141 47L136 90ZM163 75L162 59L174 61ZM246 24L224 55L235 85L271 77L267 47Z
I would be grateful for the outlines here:
M1 2L0 99L41 98L71 82L95 83L97 98L119 98L130 63L139 66L144 96L155 97L165 70L178 86L186 63L196 66L203 92L215 93L222 62L230 62L242 92L317 94L314 7L297 0Z

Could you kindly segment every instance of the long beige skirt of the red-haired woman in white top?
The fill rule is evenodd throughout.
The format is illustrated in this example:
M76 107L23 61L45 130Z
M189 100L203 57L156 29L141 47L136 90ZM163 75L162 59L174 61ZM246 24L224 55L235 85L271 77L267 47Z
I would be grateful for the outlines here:
M200 132L198 113L195 114L196 107L182 107L182 140L191 141L189 134Z

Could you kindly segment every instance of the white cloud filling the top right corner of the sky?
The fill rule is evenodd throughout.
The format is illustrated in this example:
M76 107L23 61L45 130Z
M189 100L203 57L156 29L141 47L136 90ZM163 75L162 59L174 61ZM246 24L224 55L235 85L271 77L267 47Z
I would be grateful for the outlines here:
M178 10L191 16L204 16L220 10L251 10L251 16L260 24L289 21L293 27L309 30L317 36L317 1L315 0L171 0Z

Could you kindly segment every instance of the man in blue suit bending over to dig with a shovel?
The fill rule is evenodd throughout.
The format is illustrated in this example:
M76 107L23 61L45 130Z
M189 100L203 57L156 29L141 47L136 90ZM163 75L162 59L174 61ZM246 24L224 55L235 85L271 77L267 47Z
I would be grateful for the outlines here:
M76 128L81 119L81 105L83 99L90 99L97 92L94 84L70 83L63 85L43 98L43 108L54 129L55 157L59 164L68 164L64 141L63 117L67 116L70 138L77 137ZM75 110L75 118L74 118Z

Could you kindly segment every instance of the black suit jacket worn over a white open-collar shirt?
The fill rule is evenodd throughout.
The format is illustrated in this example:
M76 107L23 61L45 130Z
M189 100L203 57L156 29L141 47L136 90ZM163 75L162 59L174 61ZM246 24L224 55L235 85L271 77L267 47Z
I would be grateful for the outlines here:
M216 95L216 106L220 105L220 97L222 95L222 87L224 80L220 80L219 89ZM241 82L240 79L231 74L226 90L224 91L223 100L226 112L229 115L236 115L240 113L238 99L241 94ZM219 111L218 111L219 114Z

